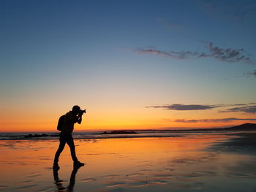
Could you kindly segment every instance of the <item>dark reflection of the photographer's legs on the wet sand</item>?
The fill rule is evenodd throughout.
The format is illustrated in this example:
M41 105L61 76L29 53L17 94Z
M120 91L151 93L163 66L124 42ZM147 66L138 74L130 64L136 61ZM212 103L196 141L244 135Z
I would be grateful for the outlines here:
M75 185L75 174L77 174L78 169L81 166L74 166L72 173L70 175L70 180L69 180L69 185L67 186L67 188L64 188L64 186L62 185L63 180L59 180L59 169L53 169L53 177L54 177L54 183L56 184L58 191L64 191L66 189L66 191L73 191L74 185Z

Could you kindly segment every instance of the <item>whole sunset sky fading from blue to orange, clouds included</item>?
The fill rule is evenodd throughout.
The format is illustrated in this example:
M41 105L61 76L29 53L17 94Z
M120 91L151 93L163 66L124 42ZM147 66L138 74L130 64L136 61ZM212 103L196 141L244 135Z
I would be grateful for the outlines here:
M256 1L0 1L0 131L256 123Z

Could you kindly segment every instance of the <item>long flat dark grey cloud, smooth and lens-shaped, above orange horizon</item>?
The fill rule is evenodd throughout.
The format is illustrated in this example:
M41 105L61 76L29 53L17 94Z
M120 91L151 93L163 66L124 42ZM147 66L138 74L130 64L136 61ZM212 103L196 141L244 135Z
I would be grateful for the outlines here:
M162 108L165 110L211 110L216 107L222 107L222 105L209 105L209 104L167 104L167 105L155 105L148 106L146 108Z

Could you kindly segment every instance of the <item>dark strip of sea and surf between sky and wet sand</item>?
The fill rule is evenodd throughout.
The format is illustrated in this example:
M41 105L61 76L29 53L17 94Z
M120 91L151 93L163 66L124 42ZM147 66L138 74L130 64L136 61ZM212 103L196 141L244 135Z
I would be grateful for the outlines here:
M207 130L153 130L153 131L74 131L72 137L74 139L115 139L115 138L156 138L156 137L190 137L193 135L203 134L227 134L241 136L241 133L256 133L256 128L247 130L246 128L223 128L223 129L207 129ZM59 139L60 132L29 132L29 133L5 133L0 134L0 140L49 140Z

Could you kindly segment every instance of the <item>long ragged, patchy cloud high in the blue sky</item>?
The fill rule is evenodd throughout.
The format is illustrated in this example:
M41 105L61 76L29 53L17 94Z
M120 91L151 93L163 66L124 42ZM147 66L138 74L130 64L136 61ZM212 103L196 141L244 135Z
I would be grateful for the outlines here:
M245 55L244 49L233 49L233 48L220 48L214 46L213 42L203 42L205 47L205 52L197 51L165 51L158 50L155 47L138 47L135 49L137 53L148 53L148 54L157 54L165 56L168 58L175 59L188 59L188 58L216 58L219 61L227 63L243 62L248 64L255 64L249 56Z

